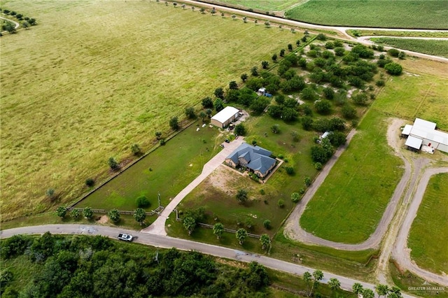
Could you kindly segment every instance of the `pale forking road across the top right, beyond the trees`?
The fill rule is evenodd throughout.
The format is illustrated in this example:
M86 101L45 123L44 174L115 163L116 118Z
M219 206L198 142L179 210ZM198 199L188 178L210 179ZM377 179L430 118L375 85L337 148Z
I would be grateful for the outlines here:
M340 32L343 36L345 36L344 39L348 40L348 41L356 41L358 43L363 43L365 45L372 45L374 44L372 41L367 41L367 40L358 40L357 38L354 38L352 36L350 36L349 34L346 33L346 30L349 29L353 29L353 30L374 30L374 31L421 31L421 32L448 32L448 30L434 30L434 29L396 29L396 28L369 28L369 27L342 27L342 26L325 26L325 25L318 25L318 24L309 24L309 23L305 23L305 22L299 22L299 21L295 21L295 20L288 20L288 19L283 19L281 17L274 17L272 15L262 15L260 13L253 13L250 11L245 11L245 10L239 10L237 8L228 8L225 6L219 6L219 5L215 5L215 4L210 4L210 3L204 3L204 2L198 2L198 1L193 1L193 0L182 0L183 3L188 3L191 6L199 6L199 7L205 7L205 8L216 8L216 10L219 11L227 11L230 13L237 13L239 15L246 15L248 17L254 17L257 18L258 20L269 20L271 22L276 22L279 24L286 24L289 25L291 27L302 27L302 28L309 28L309 29L321 29L321 30L332 30L332 31L338 31ZM390 49L391 47L384 47L386 50ZM411 55L411 56L415 56L415 57L421 57L421 58L426 58L426 59L431 59L431 60L435 60L435 61L439 61L439 62L447 62L448 63L448 58L445 57L439 57L439 56L433 56L433 55L426 55L423 54L421 52L413 52L410 50L402 50L403 52L405 52L407 55Z

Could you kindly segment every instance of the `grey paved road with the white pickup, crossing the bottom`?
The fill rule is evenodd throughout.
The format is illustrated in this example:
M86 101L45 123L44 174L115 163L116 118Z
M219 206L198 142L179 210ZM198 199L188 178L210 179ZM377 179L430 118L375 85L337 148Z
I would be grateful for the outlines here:
M142 232L135 232L116 227L106 227L101 225L40 225L33 227L18 227L15 229L6 229L1 231L0 239L5 239L17 234L43 234L50 232L52 234L87 234L87 235L103 235L110 238L116 238L118 233L128 233L136 236L135 242L142 243L147 246L156 246L159 248L178 248L180 250L196 250L207 255L214 255L216 257L225 257L230 260L237 260L241 262L258 262L266 267L287 272L290 274L302 275L306 271L314 271L309 267L293 264L281 260L276 260L272 257L265 257L264 255L254 255L246 253L241 250L232 248L223 248L221 246L213 246L206 243L198 243L185 239L176 239L169 236L146 234ZM352 278L330 274L323 271L323 283L328 283L330 278L337 278L341 282L341 288L344 290L351 290L353 283L360 283L364 288L374 290L374 285L371 283L364 283L356 281ZM403 295L403 297L412 297L410 295Z

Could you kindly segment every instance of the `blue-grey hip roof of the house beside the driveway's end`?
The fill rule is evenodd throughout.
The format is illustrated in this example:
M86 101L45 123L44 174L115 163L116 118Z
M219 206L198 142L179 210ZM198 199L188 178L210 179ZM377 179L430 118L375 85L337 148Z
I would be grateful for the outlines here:
M235 164L238 164L239 158L244 158L248 162L246 166L249 169L265 174L275 164L275 159L269 157L271 154L272 152L265 148L242 143L226 159L232 159Z

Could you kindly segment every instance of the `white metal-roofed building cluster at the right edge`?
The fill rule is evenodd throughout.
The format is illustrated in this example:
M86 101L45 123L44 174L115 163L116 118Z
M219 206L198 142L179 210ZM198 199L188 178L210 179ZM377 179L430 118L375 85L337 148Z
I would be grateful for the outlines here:
M434 122L416 118L414 125L406 125L401 134L407 137L405 145L408 148L421 150L426 146L430 150L448 152L448 134L437 130Z

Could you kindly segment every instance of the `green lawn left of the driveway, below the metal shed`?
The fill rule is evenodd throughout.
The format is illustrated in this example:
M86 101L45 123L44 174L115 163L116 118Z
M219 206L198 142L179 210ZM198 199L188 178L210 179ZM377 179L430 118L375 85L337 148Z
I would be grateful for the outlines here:
M196 123L199 125L202 121ZM202 166L218 152L215 144L218 129L208 126L199 132L196 129L196 125L191 125L90 194L77 207L132 211L137 208L135 199L145 195L151 201L149 211L158 206L158 193L162 206L167 206L169 199L196 178Z

